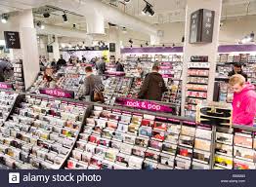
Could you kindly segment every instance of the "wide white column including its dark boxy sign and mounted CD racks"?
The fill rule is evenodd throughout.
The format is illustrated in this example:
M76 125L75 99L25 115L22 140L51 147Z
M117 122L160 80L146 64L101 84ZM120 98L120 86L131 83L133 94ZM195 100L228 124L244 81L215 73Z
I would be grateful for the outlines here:
M222 0L188 0L186 7L186 25L185 25L185 46L184 46L184 67L183 67L183 92L182 92L182 115L185 115L185 109L192 107L189 106L188 100L198 101L197 99L204 93L207 93L205 98L208 101L213 100L214 91L214 80L216 71L216 61L218 53L218 41L219 41L219 30L220 30L220 19L222 11ZM193 59L193 61L207 61L208 63L191 63L192 56L199 59ZM203 58L204 56L204 58ZM204 67L197 68L197 65L205 65ZM190 66L190 67L189 67ZM205 68L205 69L204 69ZM206 71L202 71L202 70ZM209 71L207 76L203 73ZM188 74L192 73L190 76ZM202 74L200 74L202 73ZM190 78L189 78L190 77ZM197 77L198 79L191 79L191 77ZM207 80L207 78L208 80ZM202 79L206 78L206 79ZM201 83L200 80L207 81ZM195 82L199 84L188 83ZM190 90L200 90L200 86L206 86L206 91L195 92L195 94L188 96L191 92L188 92L188 86ZM199 89L198 89L199 87ZM202 93L202 94L200 94ZM204 94L205 96L205 94ZM197 100L196 100L197 99ZM194 103L192 103L194 105ZM194 105L195 106L195 105ZM194 110L194 107L193 107ZM188 115L187 115L188 116Z

